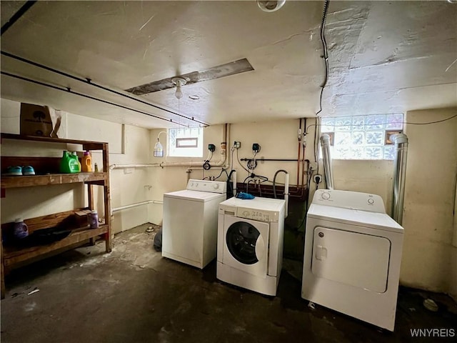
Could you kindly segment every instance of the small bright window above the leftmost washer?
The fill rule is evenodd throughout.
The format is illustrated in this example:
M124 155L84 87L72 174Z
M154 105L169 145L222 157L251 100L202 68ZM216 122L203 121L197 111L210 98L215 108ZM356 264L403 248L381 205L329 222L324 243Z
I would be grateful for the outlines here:
M203 157L203 129L201 127L169 129L168 156Z

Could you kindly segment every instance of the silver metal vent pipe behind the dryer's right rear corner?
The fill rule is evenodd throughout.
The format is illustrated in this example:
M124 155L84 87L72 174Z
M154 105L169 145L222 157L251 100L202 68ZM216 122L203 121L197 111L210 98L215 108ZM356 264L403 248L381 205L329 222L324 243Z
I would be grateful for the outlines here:
M393 220L401 225L403 222L403 200L405 197L406 159L408 157L408 136L392 134L391 141L395 143L396 155L393 161L393 200L391 215Z

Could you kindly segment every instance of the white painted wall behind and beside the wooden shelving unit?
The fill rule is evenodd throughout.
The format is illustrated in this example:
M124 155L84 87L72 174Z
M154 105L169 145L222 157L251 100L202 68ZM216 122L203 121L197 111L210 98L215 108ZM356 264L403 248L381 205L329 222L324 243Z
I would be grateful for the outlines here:
M20 103L1 99L1 132L19 134ZM136 126L123 126L99 119L63 112L61 138L109 143L110 164L144 164L149 162L149 130ZM61 157L62 150L81 150L74 144L46 144L27 141L3 141L1 154L4 156L55 156ZM124 151L124 154L122 153ZM101 152L93 152L93 163L102 169ZM5 166L2 166L4 168ZM129 174L126 174L129 173ZM150 199L148 184L151 180L149 169L114 169L111 171L111 207L143 202ZM96 190L96 207L104 212L101 187ZM32 218L45 214L63 212L75 207L87 206L86 190L83 184L56 185L51 187L26 187L7 189L1 199L1 222L11 222L17 217ZM113 232L121 232L148 222L146 205L114 212Z

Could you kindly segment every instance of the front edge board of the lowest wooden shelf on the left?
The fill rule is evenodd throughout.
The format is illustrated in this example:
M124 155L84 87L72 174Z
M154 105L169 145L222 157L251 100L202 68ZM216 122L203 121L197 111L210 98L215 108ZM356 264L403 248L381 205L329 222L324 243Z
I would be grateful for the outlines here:
M11 266L19 262L24 262L41 254L46 254L57 249L69 247L72 244L83 242L87 239L97 237L101 234L106 234L107 232L108 225L101 225L98 229L88 229L84 227L80 229L74 229L71 234L69 234L69 236L51 244L39 245L36 247L27 247L23 249L4 247L4 265Z

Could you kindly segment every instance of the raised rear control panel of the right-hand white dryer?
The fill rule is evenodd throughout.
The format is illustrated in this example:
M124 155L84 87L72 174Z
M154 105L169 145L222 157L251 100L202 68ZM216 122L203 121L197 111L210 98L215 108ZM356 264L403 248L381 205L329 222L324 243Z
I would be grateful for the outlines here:
M386 213L384 202L376 194L339 191L336 189L318 189L314 193L313 204L320 204L345 209Z

